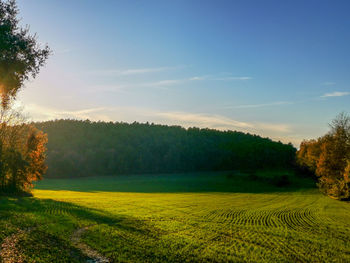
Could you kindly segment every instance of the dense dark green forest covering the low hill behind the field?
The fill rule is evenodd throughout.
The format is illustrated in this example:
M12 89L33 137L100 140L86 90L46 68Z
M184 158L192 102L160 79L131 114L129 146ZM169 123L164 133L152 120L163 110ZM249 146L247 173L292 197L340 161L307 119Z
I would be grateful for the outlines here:
M296 152L236 131L88 120L34 125L48 135L51 177L288 167Z

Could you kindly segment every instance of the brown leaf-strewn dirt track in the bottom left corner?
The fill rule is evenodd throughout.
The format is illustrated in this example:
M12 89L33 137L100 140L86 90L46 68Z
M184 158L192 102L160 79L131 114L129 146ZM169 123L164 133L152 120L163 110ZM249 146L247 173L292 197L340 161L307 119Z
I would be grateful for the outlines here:
M31 231L31 228L20 229L17 233L14 233L4 239L0 247L0 261L2 263L23 263L25 262L24 256L18 250L18 241Z

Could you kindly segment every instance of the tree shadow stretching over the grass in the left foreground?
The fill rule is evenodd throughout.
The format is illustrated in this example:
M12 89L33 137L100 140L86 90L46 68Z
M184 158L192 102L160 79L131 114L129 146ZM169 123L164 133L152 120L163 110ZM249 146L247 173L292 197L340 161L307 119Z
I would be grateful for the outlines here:
M86 225L105 225L133 235L157 233L147 222L72 203L0 197L0 244L20 229L26 230L16 246L29 262L86 262L71 241L73 232Z

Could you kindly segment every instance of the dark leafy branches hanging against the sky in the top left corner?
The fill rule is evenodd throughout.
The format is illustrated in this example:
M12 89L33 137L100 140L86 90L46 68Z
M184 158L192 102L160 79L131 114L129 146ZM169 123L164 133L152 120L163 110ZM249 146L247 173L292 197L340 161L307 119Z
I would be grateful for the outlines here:
M19 27L15 0L0 0L0 92L2 107L30 76L35 77L50 54L48 46L41 48L29 27Z

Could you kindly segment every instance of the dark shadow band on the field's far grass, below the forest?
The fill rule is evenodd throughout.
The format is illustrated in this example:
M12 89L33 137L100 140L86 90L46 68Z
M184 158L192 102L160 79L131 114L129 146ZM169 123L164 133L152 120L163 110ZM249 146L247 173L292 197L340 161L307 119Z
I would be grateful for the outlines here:
M281 178L284 181L286 179L283 174ZM287 184L283 180L232 173L123 175L44 179L37 183L35 189L135 193L268 193L315 188L315 183L310 178L289 175Z

